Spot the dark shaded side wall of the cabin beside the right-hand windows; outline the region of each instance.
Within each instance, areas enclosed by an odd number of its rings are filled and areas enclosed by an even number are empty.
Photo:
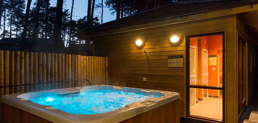
[[[246,28],[246,26],[244,25],[242,19],[240,15],[236,15],[236,28],[237,28],[237,34],[238,36],[240,36],[241,38],[243,38],[243,40],[245,41],[245,43],[247,44],[247,87],[246,89],[247,91],[247,102],[246,105],[248,105],[248,102],[250,101],[251,97],[253,96],[253,83],[254,83],[254,76],[253,76],[253,56],[254,56],[254,40],[252,39],[252,36],[250,36],[250,32],[248,31],[248,29]]]

